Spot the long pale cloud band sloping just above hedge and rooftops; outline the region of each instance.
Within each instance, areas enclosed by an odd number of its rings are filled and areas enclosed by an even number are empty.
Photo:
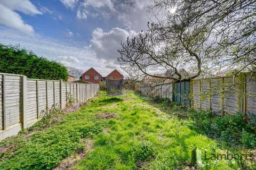
[[[44,56],[49,60],[56,60],[67,66],[79,69],[90,69],[94,67],[103,76],[111,69],[104,67],[104,60],[98,60],[94,52],[88,47],[79,47],[72,43],[64,43],[53,38],[42,35],[26,35],[14,29],[0,26],[0,43],[4,45],[17,45],[21,48],[31,50],[38,56]]]

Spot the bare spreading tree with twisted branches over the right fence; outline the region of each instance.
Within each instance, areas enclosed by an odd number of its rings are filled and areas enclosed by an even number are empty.
[[[152,9],[158,11],[158,22],[127,38],[118,50],[118,61],[130,76],[186,81],[230,70],[234,76],[255,71],[255,1],[162,0]],[[171,72],[153,74],[154,67]]]

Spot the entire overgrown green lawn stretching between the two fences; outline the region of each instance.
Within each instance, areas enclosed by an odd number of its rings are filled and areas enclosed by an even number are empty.
[[[0,143],[0,169],[52,169],[93,145],[72,169],[195,169],[191,151],[202,151],[204,169],[239,169],[235,160],[206,160],[225,153],[218,143],[189,128],[190,122],[161,111],[133,92],[119,99],[100,92],[91,104],[63,115],[49,128],[42,122]],[[40,128],[41,127],[41,128]],[[25,136],[34,132],[29,137]],[[253,168],[252,168],[253,169]]]

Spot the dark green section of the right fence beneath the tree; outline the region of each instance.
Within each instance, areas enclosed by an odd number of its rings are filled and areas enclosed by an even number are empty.
[[[174,83],[173,87],[173,101],[190,107],[190,83],[189,81],[182,81]]]

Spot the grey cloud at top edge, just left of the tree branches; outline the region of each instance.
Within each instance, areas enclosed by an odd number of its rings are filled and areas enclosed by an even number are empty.
[[[147,23],[155,21],[154,12],[148,12],[148,5],[153,4],[153,0],[84,0],[78,7],[77,18],[87,19],[90,15],[93,18],[107,19],[108,22],[113,21],[119,27],[123,25],[135,31],[146,30]]]

